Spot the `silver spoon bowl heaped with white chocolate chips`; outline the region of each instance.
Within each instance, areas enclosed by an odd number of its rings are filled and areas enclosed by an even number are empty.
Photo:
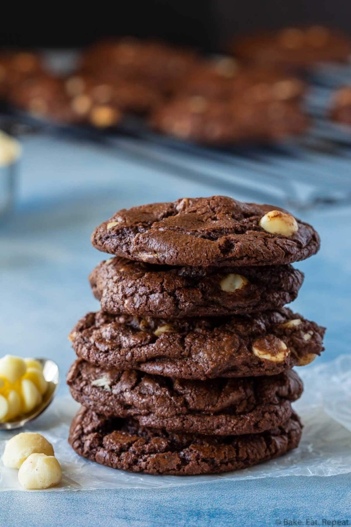
[[[0,431],[16,430],[41,415],[52,403],[59,384],[54,360],[0,359]]]

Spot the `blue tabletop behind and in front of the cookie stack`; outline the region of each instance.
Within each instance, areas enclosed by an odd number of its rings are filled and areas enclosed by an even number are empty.
[[[36,135],[27,136],[23,146],[16,210],[0,227],[1,355],[52,357],[65,374],[74,360],[67,334],[78,318],[98,307],[87,283],[89,271],[103,258],[90,245],[93,228],[122,207],[225,192],[220,184],[182,178],[90,143]],[[234,197],[250,200],[244,193]],[[350,349],[351,207],[299,215],[319,231],[322,249],[298,264],[306,277],[294,309],[328,326],[326,352],[318,359],[328,361]],[[60,389],[67,391],[64,383]],[[151,490],[2,492],[0,525],[258,527],[346,519],[351,525],[350,476]]]

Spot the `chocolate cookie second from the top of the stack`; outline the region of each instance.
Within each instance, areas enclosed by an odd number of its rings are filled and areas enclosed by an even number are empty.
[[[244,315],[292,302],[304,275],[290,265],[168,267],[112,258],[89,276],[107,313],[167,318]]]

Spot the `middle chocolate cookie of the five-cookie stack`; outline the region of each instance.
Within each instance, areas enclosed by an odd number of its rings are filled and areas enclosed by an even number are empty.
[[[167,320],[88,313],[70,339],[97,366],[175,378],[275,375],[312,362],[324,328],[282,308],[231,318]]]

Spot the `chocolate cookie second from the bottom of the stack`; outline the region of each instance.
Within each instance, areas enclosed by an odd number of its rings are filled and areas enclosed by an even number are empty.
[[[295,372],[244,379],[179,380],[77,360],[67,384],[78,403],[105,417],[205,435],[255,434],[285,423],[303,385]]]

